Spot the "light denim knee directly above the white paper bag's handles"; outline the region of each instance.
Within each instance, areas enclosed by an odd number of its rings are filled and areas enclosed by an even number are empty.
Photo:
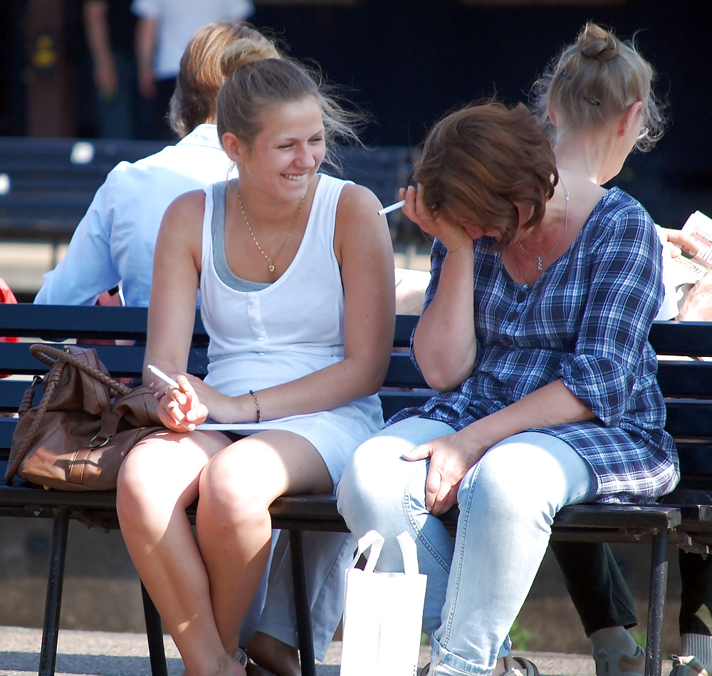
[[[416,463],[400,457],[388,437],[375,437],[357,449],[337,488],[337,504],[347,526],[360,537],[371,529],[387,536],[404,513]],[[396,533],[396,534],[397,534]]]

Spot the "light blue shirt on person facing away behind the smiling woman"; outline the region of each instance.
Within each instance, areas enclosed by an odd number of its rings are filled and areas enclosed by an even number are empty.
[[[216,125],[209,124],[155,155],[120,162],[97,190],[63,259],[45,274],[34,302],[93,305],[122,282],[126,305],[147,308],[163,212],[179,194],[224,181],[232,167]]]

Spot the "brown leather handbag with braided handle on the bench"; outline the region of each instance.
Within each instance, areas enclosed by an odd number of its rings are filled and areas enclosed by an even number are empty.
[[[119,467],[140,440],[166,430],[150,388],[129,388],[111,378],[94,348],[31,345],[30,353],[51,368],[33,380],[19,408],[20,419],[5,474],[63,491],[116,488]],[[32,407],[42,383],[41,402]]]

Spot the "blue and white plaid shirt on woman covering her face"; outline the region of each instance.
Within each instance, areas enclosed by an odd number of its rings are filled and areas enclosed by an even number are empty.
[[[643,207],[610,189],[570,249],[532,286],[516,284],[490,251],[473,243],[477,357],[453,392],[399,412],[461,430],[554,380],[562,380],[597,418],[538,428],[567,442],[597,477],[602,502],[646,502],[679,480],[677,452],[663,427],[648,331],[663,296],[661,244]],[[435,241],[435,295],[446,249]]]

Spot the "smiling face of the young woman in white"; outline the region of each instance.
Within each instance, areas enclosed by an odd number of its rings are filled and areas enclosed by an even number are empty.
[[[311,96],[270,105],[259,123],[251,146],[237,140],[233,159],[241,184],[253,184],[279,201],[302,199],[326,154],[320,105]]]

